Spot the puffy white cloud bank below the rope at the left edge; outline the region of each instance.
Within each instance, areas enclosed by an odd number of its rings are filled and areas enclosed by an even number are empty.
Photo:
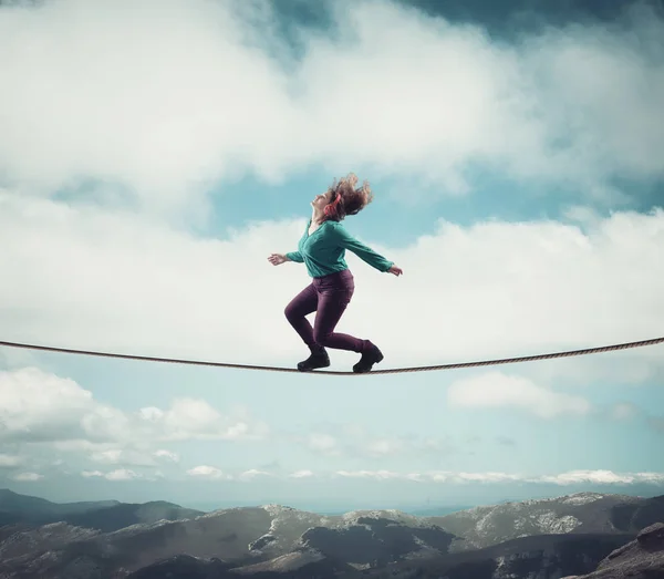
[[[175,399],[167,410],[121,411],[75,381],[35,368],[0,371],[0,442],[17,449],[15,456],[0,455],[0,467],[28,458],[49,462],[52,455],[44,449],[50,448],[90,465],[117,466],[103,475],[111,480],[137,476],[126,467],[177,464],[179,455],[160,447],[164,442],[256,441],[267,428],[245,409],[224,415],[195,399]],[[85,472],[98,473],[95,467]]]

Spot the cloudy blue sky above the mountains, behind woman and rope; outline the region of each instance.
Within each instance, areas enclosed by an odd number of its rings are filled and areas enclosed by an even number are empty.
[[[0,340],[294,368],[335,177],[377,369],[662,335],[661,2],[0,2]],[[664,345],[330,376],[0,347],[0,486],[199,508],[664,494]],[[330,370],[357,354],[331,351]]]

